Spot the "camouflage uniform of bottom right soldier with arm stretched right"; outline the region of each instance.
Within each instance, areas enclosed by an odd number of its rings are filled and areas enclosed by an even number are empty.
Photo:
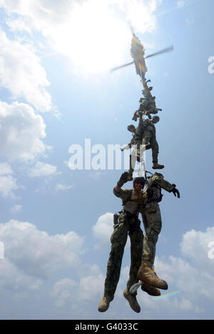
[[[148,196],[147,189],[149,188],[151,194]],[[144,192],[146,204],[141,206],[141,215],[145,229],[145,236],[143,239],[143,256],[142,261],[150,261],[154,263],[156,256],[156,243],[158,241],[158,234],[161,232],[162,220],[161,211],[158,202],[161,202],[161,189],[171,192],[174,189],[174,184],[163,179],[163,175],[155,173],[148,180],[148,186]]]

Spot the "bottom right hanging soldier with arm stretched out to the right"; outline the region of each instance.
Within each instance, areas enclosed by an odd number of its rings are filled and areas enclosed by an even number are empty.
[[[143,201],[145,202],[140,209],[146,234],[143,239],[143,256],[137,277],[139,280],[151,286],[166,290],[168,284],[158,278],[153,266],[158,235],[162,227],[161,211],[158,205],[163,197],[161,189],[165,189],[167,192],[173,192],[175,197],[180,198],[180,193],[178,189],[176,189],[176,185],[166,181],[163,178],[163,174],[155,173],[148,180],[143,194]]]

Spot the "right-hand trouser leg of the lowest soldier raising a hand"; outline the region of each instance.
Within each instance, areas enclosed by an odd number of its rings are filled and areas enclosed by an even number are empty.
[[[137,274],[141,266],[141,257],[143,252],[143,231],[139,226],[136,231],[133,231],[133,233],[128,235],[131,241],[131,266],[127,282],[127,289],[129,290],[133,284],[138,283]]]

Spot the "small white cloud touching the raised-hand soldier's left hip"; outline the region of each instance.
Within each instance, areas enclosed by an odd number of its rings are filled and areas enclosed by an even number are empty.
[[[113,214],[107,212],[98,218],[98,221],[93,225],[93,235],[98,239],[96,249],[103,246],[110,246],[110,237],[113,232]]]

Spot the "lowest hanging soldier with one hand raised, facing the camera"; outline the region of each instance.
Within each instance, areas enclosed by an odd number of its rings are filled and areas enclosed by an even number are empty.
[[[126,246],[127,237],[131,240],[131,266],[126,290],[123,296],[128,301],[131,308],[139,313],[141,307],[136,299],[136,294],[131,295],[129,288],[138,282],[137,273],[141,265],[141,254],[143,251],[143,231],[141,230],[141,221],[138,219],[139,209],[143,201],[142,189],[145,184],[143,177],[136,177],[133,181],[133,189],[121,189],[124,183],[128,181],[128,172],[121,175],[113,194],[123,201],[123,211],[119,215],[114,216],[114,230],[111,235],[111,253],[108,259],[106,280],[104,286],[104,294],[99,303],[98,310],[105,312],[108,310],[109,303],[113,301],[114,293],[118,285],[121,273],[121,263],[123,259],[123,251]],[[143,283],[144,291],[158,296],[158,289]]]

